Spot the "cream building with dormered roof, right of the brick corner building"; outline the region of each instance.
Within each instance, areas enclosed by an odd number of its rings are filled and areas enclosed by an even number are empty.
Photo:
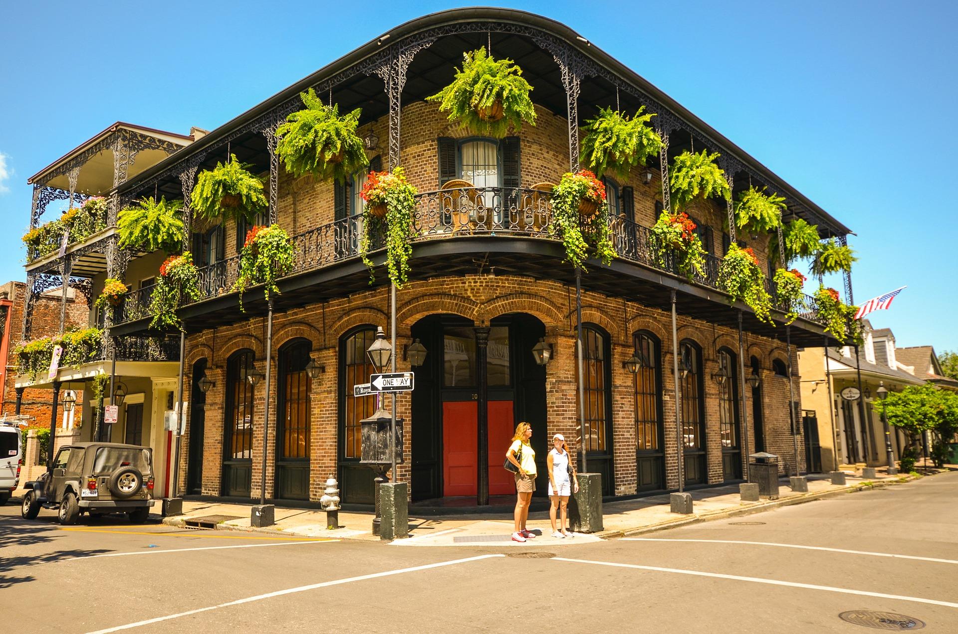
[[[807,426],[817,428],[817,443],[810,443],[810,453],[816,470],[831,470],[841,465],[888,464],[884,442],[884,426],[875,399],[878,387],[889,392],[900,392],[909,385],[921,385],[922,380],[901,369],[895,348],[895,335],[889,328],[872,329],[862,321],[864,343],[855,358],[855,349],[805,349],[798,354],[802,374],[803,419]],[[827,353],[827,356],[826,356]],[[842,397],[846,388],[858,389],[860,368],[863,400]],[[831,404],[830,404],[831,403]],[[892,451],[901,456],[904,437],[890,428]],[[835,462],[837,457],[837,463]]]

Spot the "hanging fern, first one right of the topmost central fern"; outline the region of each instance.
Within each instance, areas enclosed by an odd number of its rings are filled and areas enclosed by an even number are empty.
[[[654,114],[642,114],[642,106],[629,118],[618,110],[601,108],[599,116],[585,122],[582,156],[599,176],[606,170],[622,177],[636,164],[645,165],[646,159],[658,154],[662,138],[649,121]]]

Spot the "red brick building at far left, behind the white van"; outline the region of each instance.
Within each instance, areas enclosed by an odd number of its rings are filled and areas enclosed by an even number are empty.
[[[15,384],[17,358],[14,355],[16,345],[23,340],[23,307],[26,303],[27,285],[22,282],[8,282],[0,286],[0,358],[5,360],[0,368],[3,384],[3,402],[0,413],[4,415],[22,414],[30,417],[31,427],[50,427],[51,403],[53,393],[38,388],[17,387]],[[52,288],[38,295],[33,302],[34,336],[48,336],[58,333],[60,309],[65,306],[66,328],[86,328],[90,309],[86,301],[73,288],[67,290],[66,302],[63,301],[63,289]],[[77,397],[82,398],[82,386],[73,386]],[[64,388],[66,389],[66,388]],[[57,417],[60,426],[80,428],[82,415],[77,410],[71,415]]]

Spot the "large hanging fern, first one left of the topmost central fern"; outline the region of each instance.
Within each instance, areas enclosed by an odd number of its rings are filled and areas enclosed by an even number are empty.
[[[276,153],[294,176],[312,173],[340,183],[369,165],[362,139],[356,134],[361,108],[339,116],[339,105],[325,105],[310,88],[300,93],[306,108],[286,117],[276,130]]]

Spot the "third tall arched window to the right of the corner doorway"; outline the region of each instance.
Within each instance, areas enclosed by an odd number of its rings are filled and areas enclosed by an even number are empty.
[[[705,412],[702,392],[702,351],[691,341],[679,345],[682,379],[682,438],[685,455],[685,482],[704,485],[707,480],[705,456]]]

